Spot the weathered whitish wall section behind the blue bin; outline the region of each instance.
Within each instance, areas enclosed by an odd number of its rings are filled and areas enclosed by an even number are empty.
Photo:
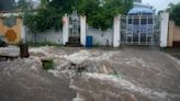
[[[93,27],[87,29],[87,35],[93,37],[93,45],[98,46],[112,46],[113,45],[113,29],[106,31],[100,31]]]

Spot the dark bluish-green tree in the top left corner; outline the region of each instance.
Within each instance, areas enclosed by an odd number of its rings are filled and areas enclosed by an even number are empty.
[[[0,0],[0,11],[10,11],[15,9],[15,0]]]

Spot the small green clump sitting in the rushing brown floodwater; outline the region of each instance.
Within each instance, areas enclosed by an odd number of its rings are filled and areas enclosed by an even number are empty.
[[[53,59],[43,59],[42,63],[43,63],[43,69],[45,70],[54,69],[55,64]]]

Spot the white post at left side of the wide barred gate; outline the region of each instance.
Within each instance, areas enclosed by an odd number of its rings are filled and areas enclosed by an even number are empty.
[[[120,31],[121,31],[121,15],[117,15],[114,18],[114,33],[113,33],[113,47],[119,47],[120,46]]]

